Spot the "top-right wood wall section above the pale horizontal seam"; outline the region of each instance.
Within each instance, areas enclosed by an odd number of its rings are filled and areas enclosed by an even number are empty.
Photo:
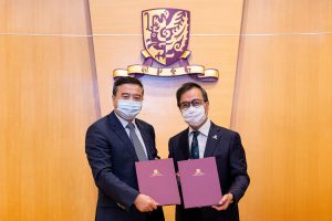
[[[332,31],[330,0],[247,0],[245,12],[247,33]]]

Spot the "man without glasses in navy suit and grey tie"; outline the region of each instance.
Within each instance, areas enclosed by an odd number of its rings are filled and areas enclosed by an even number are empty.
[[[158,158],[153,126],[135,118],[143,94],[138,80],[117,80],[114,110],[86,131],[85,152],[98,188],[96,221],[164,220],[162,208],[137,187],[135,161]]]

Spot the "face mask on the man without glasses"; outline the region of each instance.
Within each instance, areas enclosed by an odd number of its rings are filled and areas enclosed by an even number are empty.
[[[142,109],[142,102],[118,99],[115,113],[126,120],[132,120]]]

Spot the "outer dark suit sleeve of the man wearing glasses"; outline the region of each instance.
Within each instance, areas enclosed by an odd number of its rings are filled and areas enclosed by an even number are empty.
[[[230,147],[230,177],[232,179],[230,192],[234,201],[238,202],[245,194],[250,178],[247,172],[246,152],[241,144],[240,135],[236,133]]]

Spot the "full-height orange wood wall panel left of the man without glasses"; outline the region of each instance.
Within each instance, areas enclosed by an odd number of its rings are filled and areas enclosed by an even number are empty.
[[[100,107],[87,1],[0,2],[0,220],[93,220],[84,134]]]

